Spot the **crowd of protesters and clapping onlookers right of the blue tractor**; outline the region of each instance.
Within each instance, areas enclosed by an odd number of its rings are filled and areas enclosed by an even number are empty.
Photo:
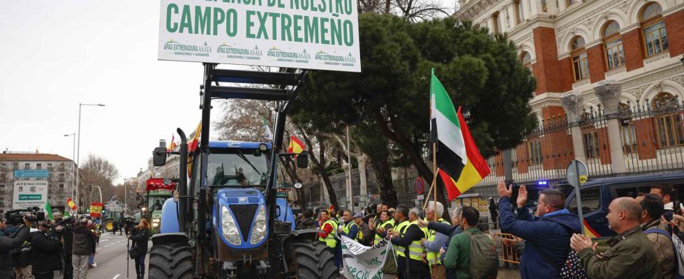
[[[602,241],[582,234],[579,216],[565,209],[559,190],[542,191],[531,213],[526,187],[515,201],[512,188],[499,182],[498,205],[490,211],[498,213],[501,232],[515,236],[502,245],[521,255],[521,278],[678,278],[681,259],[672,238],[684,235],[684,216],[675,210],[672,186],[611,201],[606,220],[616,236]],[[397,278],[496,278],[498,253],[491,236],[478,229],[479,211],[456,207],[448,221],[441,218],[444,211],[439,202],[429,202],[425,211],[387,204],[370,214],[323,210],[314,216],[307,210],[299,227],[320,228],[318,239],[334,250],[341,269],[340,236],[366,246],[387,238],[396,250]]]

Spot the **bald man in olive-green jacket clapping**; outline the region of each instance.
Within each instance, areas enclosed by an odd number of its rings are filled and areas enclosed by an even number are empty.
[[[579,253],[589,278],[658,279],[657,255],[641,230],[641,206],[632,197],[619,197],[608,206],[608,226],[618,233],[609,239],[611,246],[597,254],[598,243],[581,234],[570,239],[570,248]]]

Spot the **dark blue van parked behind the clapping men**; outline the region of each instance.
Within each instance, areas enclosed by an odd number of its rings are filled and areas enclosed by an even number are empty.
[[[586,233],[595,237],[614,235],[615,232],[608,228],[606,219],[610,202],[617,197],[637,197],[639,193],[648,193],[650,186],[660,183],[673,186],[673,195],[676,196],[672,197],[673,200],[684,201],[684,172],[620,176],[585,183],[580,194]],[[579,212],[576,197],[573,189],[565,199],[565,208],[575,214]]]

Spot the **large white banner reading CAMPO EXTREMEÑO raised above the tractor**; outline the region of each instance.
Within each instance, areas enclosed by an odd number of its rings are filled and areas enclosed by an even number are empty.
[[[158,59],[361,71],[357,0],[161,0]]]

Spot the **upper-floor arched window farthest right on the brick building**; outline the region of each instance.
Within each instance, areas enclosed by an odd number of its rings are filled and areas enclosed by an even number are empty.
[[[667,31],[665,22],[662,20],[662,8],[658,3],[648,3],[644,10],[641,10],[639,22],[644,30],[644,45],[646,45],[646,56],[659,54],[669,48],[667,44]]]

